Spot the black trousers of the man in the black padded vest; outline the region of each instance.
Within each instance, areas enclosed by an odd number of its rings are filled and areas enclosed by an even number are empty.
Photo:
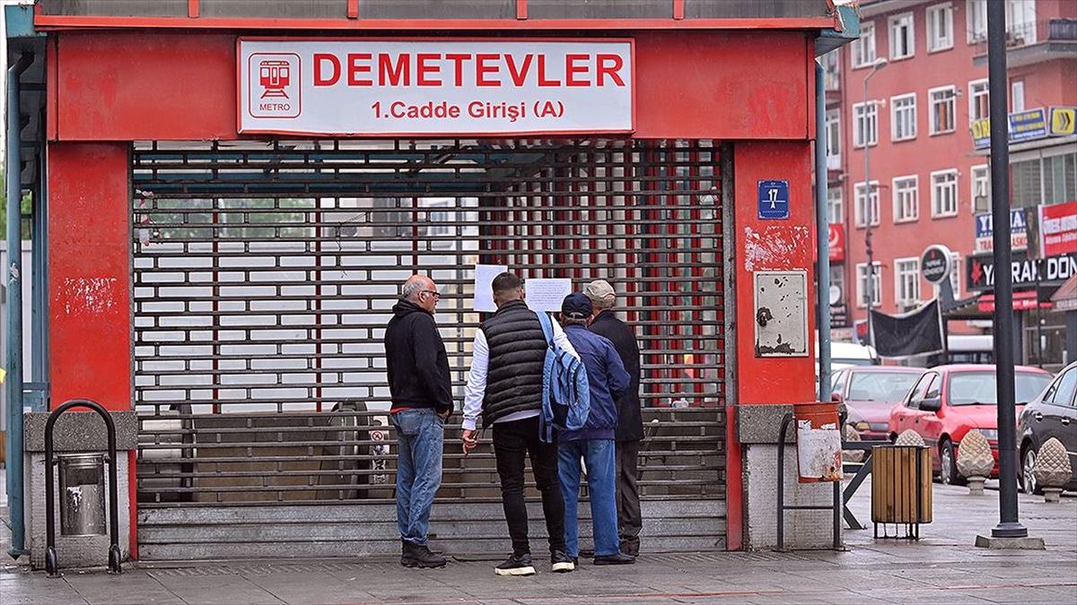
[[[528,508],[523,501],[523,462],[531,459],[531,472],[542,493],[542,510],[549,533],[549,551],[564,550],[564,501],[557,480],[557,444],[538,439],[538,417],[493,425],[493,453],[501,478],[501,503],[505,508],[513,552],[531,552],[528,541]]]

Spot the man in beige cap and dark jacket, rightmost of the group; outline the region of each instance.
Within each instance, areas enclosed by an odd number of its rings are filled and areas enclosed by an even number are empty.
[[[640,553],[640,530],[643,518],[640,512],[640,491],[635,480],[639,472],[637,459],[640,441],[643,439],[643,418],[640,412],[640,346],[631,326],[617,318],[613,307],[617,299],[610,282],[595,280],[587,284],[584,294],[591,299],[595,315],[590,330],[613,342],[625,369],[631,377],[628,391],[617,399],[617,533],[620,534],[620,549],[635,557]]]

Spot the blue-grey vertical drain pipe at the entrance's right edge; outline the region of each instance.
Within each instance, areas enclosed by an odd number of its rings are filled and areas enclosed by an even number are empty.
[[[817,282],[815,328],[819,330],[819,400],[830,400],[830,225],[826,208],[826,85],[815,61],[815,247]]]

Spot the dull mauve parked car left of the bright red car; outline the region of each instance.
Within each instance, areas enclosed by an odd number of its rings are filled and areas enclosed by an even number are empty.
[[[927,371],[905,366],[852,366],[834,372],[830,399],[845,404],[847,424],[861,439],[885,440],[890,436],[890,410],[901,403],[917,380]]]

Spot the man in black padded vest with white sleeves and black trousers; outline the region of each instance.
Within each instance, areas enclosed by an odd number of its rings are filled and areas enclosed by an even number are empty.
[[[482,427],[493,426],[501,502],[513,540],[513,554],[494,573],[499,576],[535,573],[523,501],[523,461],[529,456],[535,484],[542,492],[551,569],[571,572],[575,565],[564,553],[564,501],[557,479],[557,444],[544,444],[538,438],[546,336],[538,316],[523,301],[520,278],[504,272],[491,285],[498,311],[475,333],[464,392],[463,440],[464,453],[478,445],[475,426],[480,413]],[[556,322],[551,323],[555,341],[575,355],[564,332]]]

